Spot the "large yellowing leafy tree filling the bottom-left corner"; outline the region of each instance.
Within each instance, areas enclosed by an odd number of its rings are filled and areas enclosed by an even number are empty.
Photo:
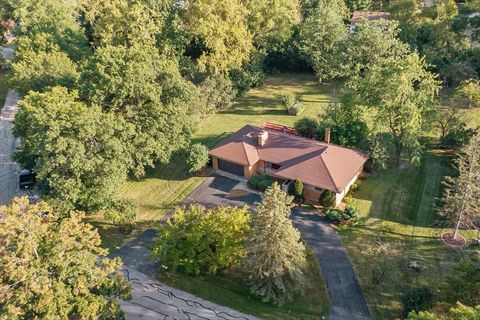
[[[119,319],[130,297],[119,258],[105,258],[83,215],[59,219],[44,202],[0,207],[1,319]]]

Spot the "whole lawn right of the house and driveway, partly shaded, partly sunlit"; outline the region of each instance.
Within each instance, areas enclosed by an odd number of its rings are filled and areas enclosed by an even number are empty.
[[[440,285],[461,258],[440,241],[445,229],[433,227],[441,181],[452,170],[450,159],[451,155],[440,150],[429,150],[419,167],[379,172],[362,180],[353,193],[362,218],[358,225],[342,227],[339,233],[376,319],[401,319],[401,295],[408,288],[428,286],[441,296]],[[398,275],[374,286],[368,268],[371,261],[362,251],[378,238],[398,245],[405,261],[419,261],[421,271],[411,273],[403,266]]]

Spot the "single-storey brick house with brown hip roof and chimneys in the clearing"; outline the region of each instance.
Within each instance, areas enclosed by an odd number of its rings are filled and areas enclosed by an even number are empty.
[[[291,128],[246,125],[213,147],[209,154],[216,170],[248,178],[267,173],[284,187],[294,179],[304,185],[304,198],[318,202],[331,190],[336,205],[342,202],[363,171],[367,156],[356,150],[299,137]]]

